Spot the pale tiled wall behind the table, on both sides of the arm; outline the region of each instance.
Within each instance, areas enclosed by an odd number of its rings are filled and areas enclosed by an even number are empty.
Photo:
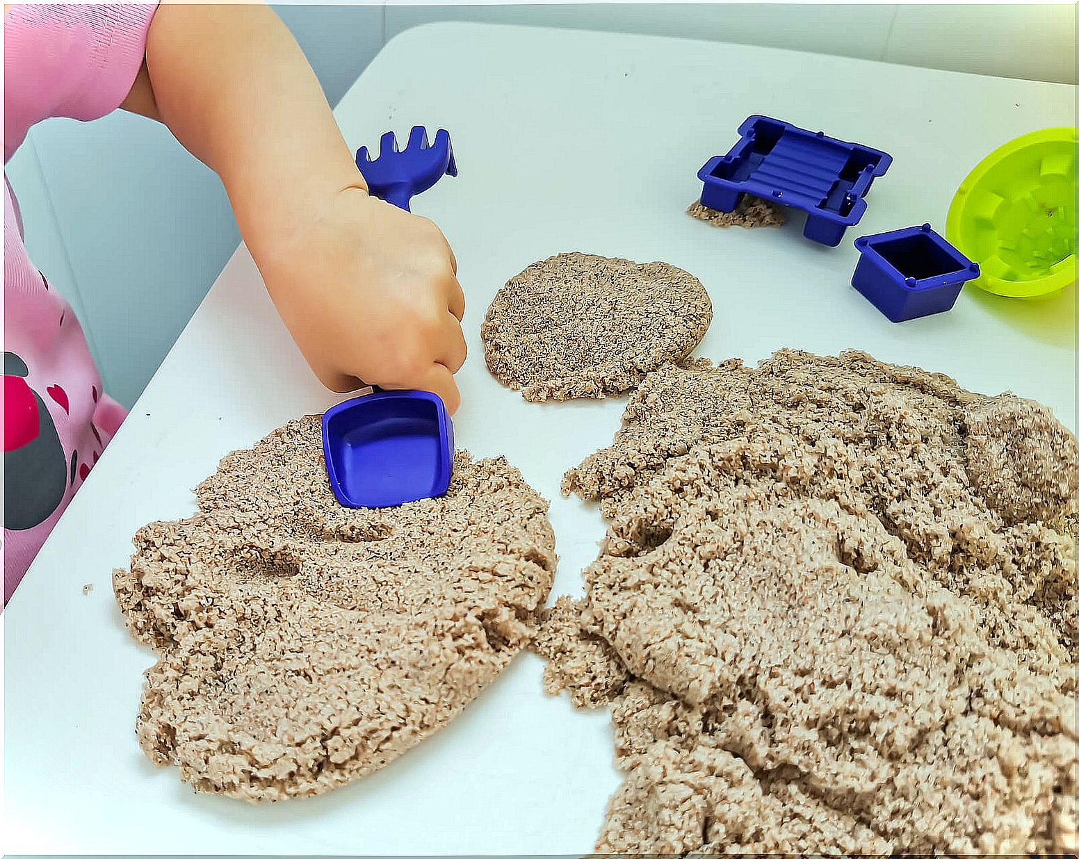
[[[644,32],[1076,82],[1073,5],[276,6],[331,104],[386,39],[432,21]],[[35,128],[8,165],[27,246],[69,297],[106,387],[132,404],[238,241],[217,178],[153,123]]]

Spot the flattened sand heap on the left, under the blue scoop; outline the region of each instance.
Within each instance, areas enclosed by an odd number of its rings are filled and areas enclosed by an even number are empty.
[[[226,456],[200,512],[136,535],[113,586],[158,652],[138,739],[196,790],[322,793],[446,725],[524,645],[550,589],[547,503],[459,452],[441,499],[338,506],[319,420]]]

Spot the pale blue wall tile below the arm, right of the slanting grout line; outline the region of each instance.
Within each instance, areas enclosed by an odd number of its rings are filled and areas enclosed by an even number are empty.
[[[35,136],[106,390],[129,406],[240,241],[224,189],[167,128],[123,111]]]

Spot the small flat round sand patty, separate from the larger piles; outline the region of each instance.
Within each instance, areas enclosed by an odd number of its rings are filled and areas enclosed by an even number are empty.
[[[708,292],[681,269],[559,254],[498,290],[481,336],[494,377],[542,401],[629,391],[688,355],[711,322]]]

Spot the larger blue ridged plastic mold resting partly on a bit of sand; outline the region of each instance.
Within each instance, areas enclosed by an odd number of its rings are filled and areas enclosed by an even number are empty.
[[[750,117],[741,139],[725,155],[709,159],[697,172],[705,188],[700,203],[734,212],[750,193],[806,212],[806,238],[835,247],[865,214],[863,199],[891,165],[878,149],[807,132],[768,117]]]

